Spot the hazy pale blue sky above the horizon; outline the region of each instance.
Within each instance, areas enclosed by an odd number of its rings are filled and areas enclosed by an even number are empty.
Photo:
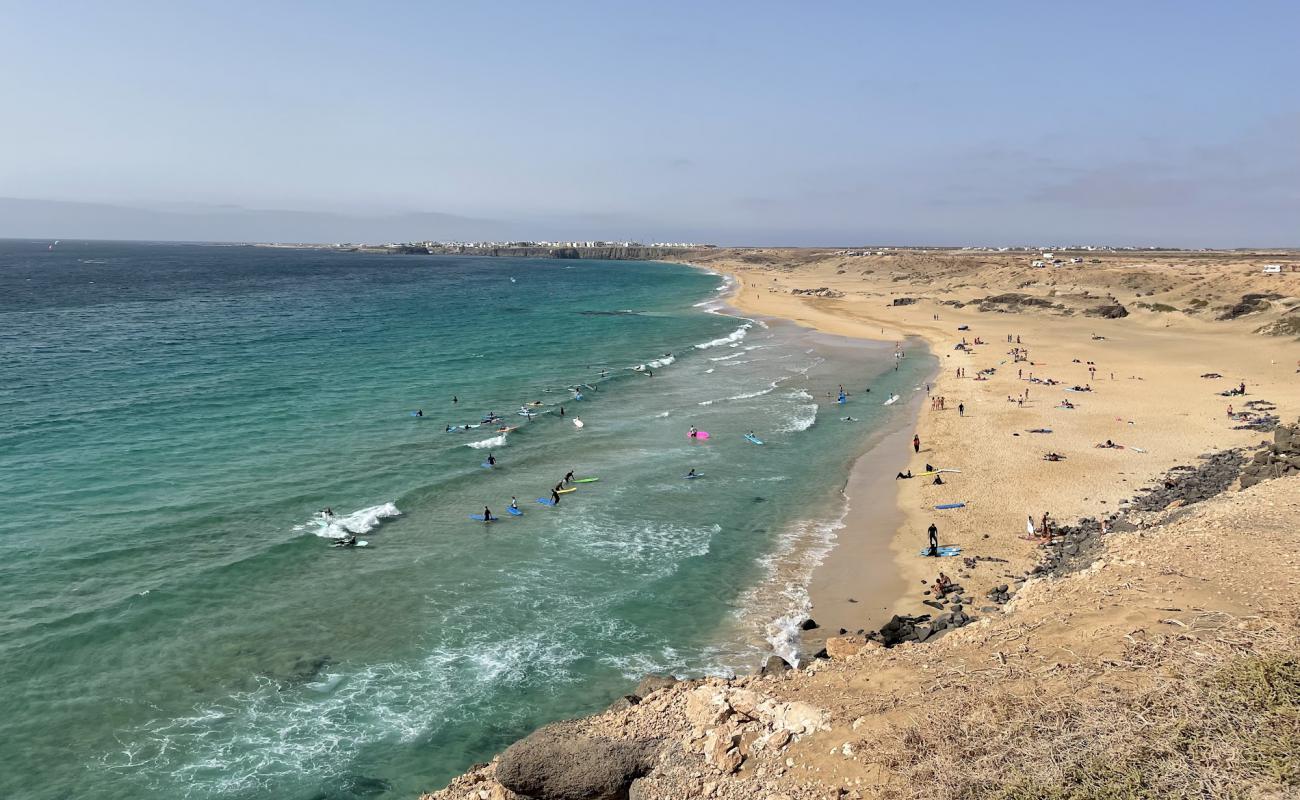
[[[1297,3],[0,20],[0,235],[1300,246]]]

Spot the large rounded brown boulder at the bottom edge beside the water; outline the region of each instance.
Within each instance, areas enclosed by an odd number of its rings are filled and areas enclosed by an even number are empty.
[[[655,743],[618,741],[549,725],[506,748],[497,780],[532,800],[627,800],[654,765]]]

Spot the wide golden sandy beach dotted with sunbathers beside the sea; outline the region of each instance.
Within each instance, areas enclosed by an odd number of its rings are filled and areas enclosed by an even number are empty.
[[[1260,272],[1257,264],[1268,258],[1221,258],[1195,271],[1183,267],[1186,256],[1176,254],[1139,267],[1131,265],[1135,259],[1108,258],[1109,264],[1101,268],[1079,264],[1043,271],[1031,268],[1031,259],[1023,255],[991,259],[926,251],[890,256],[786,251],[793,258],[781,260],[781,251],[759,252],[772,263],[755,265],[753,252],[722,254],[706,261],[737,280],[732,303],[741,311],[781,316],[841,336],[894,342],[916,336],[926,341],[939,358],[939,375],[930,397],[915,402],[920,451],[911,453],[911,434],[894,437],[894,445],[902,449],[898,470],[920,472],[927,463],[961,470],[945,473],[941,487],[930,479],[897,481],[900,522],[888,536],[896,580],[889,580],[879,568],[862,568],[870,563],[871,548],[883,545],[879,532],[870,529],[871,519],[863,516],[864,507],[876,507],[883,500],[881,492],[868,488],[863,473],[893,476],[897,470],[881,462],[879,454],[859,462],[850,481],[846,527],[814,583],[814,617],[827,628],[870,628],[883,622],[878,619],[881,614],[888,619],[894,611],[926,611],[919,587],[932,583],[939,571],[953,578],[958,571],[979,593],[1006,583],[1005,568],[982,565],[967,571],[959,558],[919,558],[931,523],[939,527],[940,544],[961,546],[963,555],[1032,563],[1040,542],[1024,539],[1030,516],[1039,523],[1044,513],[1062,523],[1109,516],[1135,488],[1170,467],[1208,450],[1258,441],[1258,432],[1234,429],[1239,423],[1230,420],[1226,410],[1235,398],[1219,397],[1218,392],[1245,382],[1249,394],[1236,401],[1238,407],[1260,398],[1283,408],[1300,407],[1300,354],[1292,338],[1253,334],[1262,324],[1258,317],[1219,321],[1136,306],[1152,289],[1166,286],[1173,290],[1164,293],[1164,304],[1169,295],[1188,304],[1192,299],[1227,304],[1238,302],[1239,294],[1277,289],[1279,284],[1290,286],[1286,294],[1300,294],[1295,286],[1300,276]],[[888,269],[879,269],[881,261]],[[940,276],[928,277],[936,261],[941,269],[962,274],[965,286],[957,289],[935,280]],[[914,277],[898,281],[901,273]],[[1010,312],[1006,306],[980,311],[980,304],[972,302],[1014,289],[1031,297],[1024,282],[1034,277],[1050,280],[1041,284],[1050,286],[1046,291],[1056,297],[1061,297],[1057,287],[1069,282],[1071,297],[1054,302],[1075,312],[1041,312],[1023,302]],[[1117,285],[1131,286],[1131,297],[1117,297]],[[840,297],[792,293],[800,289],[828,289],[827,294]],[[898,298],[915,302],[896,306]],[[967,304],[956,307],[953,302]],[[1130,303],[1131,315],[1119,320],[1082,315],[1109,302]],[[970,347],[954,350],[963,341]],[[1015,347],[1026,351],[1027,360],[1014,360],[1010,351]],[[993,372],[987,380],[976,380],[985,369]],[[1200,377],[1216,372],[1223,377]],[[1037,382],[1046,380],[1058,384]],[[1091,392],[1067,390],[1075,385]],[[931,397],[944,398],[944,408],[932,410]],[[1075,407],[1061,407],[1063,401]],[[963,415],[958,406],[965,406]],[[1123,449],[1096,447],[1108,440]],[[1046,462],[1046,453],[1065,459]],[[868,494],[858,500],[854,489]],[[935,510],[936,505],[954,502],[966,506]],[[907,592],[894,597],[896,605],[884,613],[888,587],[907,587]],[[863,596],[871,604],[850,609],[846,618],[842,611],[848,598]],[[863,614],[867,609],[871,613]]]

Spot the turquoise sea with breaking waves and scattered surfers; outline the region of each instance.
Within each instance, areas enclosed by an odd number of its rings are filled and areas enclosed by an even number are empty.
[[[0,796],[412,797],[647,671],[789,652],[926,362],[722,284],[0,242]],[[445,432],[489,411],[519,428]],[[601,480],[538,505],[569,470]]]

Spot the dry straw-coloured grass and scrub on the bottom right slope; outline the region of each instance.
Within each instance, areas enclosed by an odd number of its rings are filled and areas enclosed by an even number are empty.
[[[1300,793],[1300,639],[1257,620],[1131,635],[1119,660],[953,673],[884,735],[896,799],[1165,800]],[[1216,624],[1206,626],[1206,622]]]

